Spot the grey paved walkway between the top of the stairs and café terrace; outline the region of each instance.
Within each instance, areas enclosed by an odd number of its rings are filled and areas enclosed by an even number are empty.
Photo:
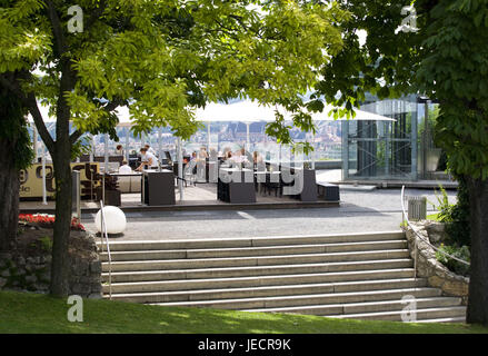
[[[408,189],[407,195],[427,196],[438,205],[432,190]],[[450,202],[456,191],[448,191]],[[431,204],[428,214],[434,212]],[[94,215],[83,225],[94,228]],[[340,234],[397,230],[401,222],[400,189],[341,190],[339,208],[247,211],[147,211],[127,214],[127,229],[113,240],[232,238],[279,235]]]

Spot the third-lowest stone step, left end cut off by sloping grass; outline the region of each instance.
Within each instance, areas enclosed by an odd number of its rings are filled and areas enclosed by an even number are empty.
[[[345,305],[343,309],[349,308],[355,303],[361,305],[366,301],[384,301],[400,300],[404,296],[414,296],[416,298],[439,297],[441,294],[438,288],[406,288],[406,289],[384,289],[371,291],[352,291],[352,293],[331,293],[316,295],[298,295],[298,296],[279,296],[279,297],[259,297],[259,298],[238,298],[238,299],[218,299],[218,300],[198,300],[198,301],[172,301],[158,303],[163,306],[179,307],[209,307],[216,309],[258,309],[267,312],[268,309],[283,307],[301,307],[301,306],[328,306]],[[447,301],[446,301],[447,303]],[[374,304],[371,304],[374,306]],[[356,310],[356,309],[352,309]],[[348,313],[348,310],[346,310]],[[356,313],[356,312],[353,312]]]

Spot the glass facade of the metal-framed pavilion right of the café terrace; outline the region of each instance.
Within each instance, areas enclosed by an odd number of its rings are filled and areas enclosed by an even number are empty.
[[[342,121],[342,179],[417,180],[418,103],[369,98],[361,110],[395,121]]]

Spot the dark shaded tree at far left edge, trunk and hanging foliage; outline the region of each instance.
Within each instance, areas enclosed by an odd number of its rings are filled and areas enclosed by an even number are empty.
[[[9,251],[16,243],[19,219],[19,170],[32,160],[26,108],[0,86],[0,251]]]

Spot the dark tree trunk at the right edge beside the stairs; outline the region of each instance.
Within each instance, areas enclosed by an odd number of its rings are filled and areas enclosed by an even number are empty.
[[[471,275],[467,322],[488,325],[488,180],[468,178]]]

